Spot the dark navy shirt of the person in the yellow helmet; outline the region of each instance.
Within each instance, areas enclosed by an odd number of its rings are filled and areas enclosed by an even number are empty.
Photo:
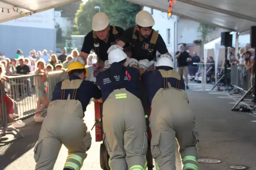
[[[69,77],[70,81],[76,80],[76,79],[80,79],[80,78],[76,75],[70,75]],[[62,85],[62,81],[57,83],[57,85],[55,86],[55,89],[53,90],[53,93],[52,93],[52,101],[61,100],[61,93],[62,93],[61,85]],[[65,100],[67,100],[68,94],[72,96],[73,89],[65,90],[65,98],[64,98]],[[76,93],[76,100],[81,102],[83,107],[83,112],[86,111],[86,107],[89,104],[91,98],[95,98],[98,100],[101,97],[102,97],[101,90],[93,82],[88,80],[83,80],[83,82],[81,83]]]

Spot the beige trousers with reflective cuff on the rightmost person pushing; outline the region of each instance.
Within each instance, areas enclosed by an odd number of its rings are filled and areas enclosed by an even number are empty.
[[[187,93],[176,88],[159,89],[152,100],[149,121],[152,132],[151,152],[156,169],[176,170],[177,139],[183,170],[198,170],[198,133]]]

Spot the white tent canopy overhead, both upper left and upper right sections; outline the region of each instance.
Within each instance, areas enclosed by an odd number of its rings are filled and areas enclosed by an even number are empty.
[[[0,23],[24,17],[30,13],[38,13],[78,0],[0,0],[0,7],[10,13],[0,15]],[[143,6],[167,12],[168,0],[127,0]],[[255,0],[173,0],[172,14],[229,31],[248,31],[256,25]],[[14,12],[13,8],[18,12]],[[19,11],[22,11],[20,14]]]

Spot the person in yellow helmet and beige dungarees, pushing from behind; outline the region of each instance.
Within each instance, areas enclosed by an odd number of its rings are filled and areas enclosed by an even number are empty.
[[[36,170],[52,170],[62,144],[68,149],[64,170],[81,169],[91,146],[83,117],[91,98],[102,102],[101,91],[84,80],[88,73],[81,57],[69,62],[67,72],[69,79],[55,86],[34,148]]]

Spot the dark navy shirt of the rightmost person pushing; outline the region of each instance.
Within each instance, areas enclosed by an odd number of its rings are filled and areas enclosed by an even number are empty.
[[[168,71],[169,68],[162,67],[162,70]],[[167,78],[168,82],[172,87],[176,87],[177,79],[176,78]],[[146,71],[141,75],[141,81],[146,85],[147,88],[147,95],[148,95],[148,101],[151,106],[152,100],[156,94],[156,92],[160,88],[164,88],[164,78],[162,77],[160,71],[158,70],[151,70]],[[185,83],[181,76],[179,89],[185,90]],[[171,96],[170,96],[171,97]]]

